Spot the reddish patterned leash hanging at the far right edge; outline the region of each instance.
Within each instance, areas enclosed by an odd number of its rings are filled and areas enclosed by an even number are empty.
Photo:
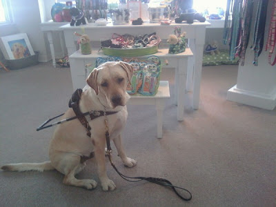
[[[268,30],[268,41],[266,42],[266,51],[269,51],[268,54],[268,63],[271,66],[274,66],[276,63],[276,57],[273,62],[271,62],[271,57],[273,55],[274,49],[276,44],[276,0],[272,3],[272,11],[271,11],[271,18],[270,18],[270,25]]]

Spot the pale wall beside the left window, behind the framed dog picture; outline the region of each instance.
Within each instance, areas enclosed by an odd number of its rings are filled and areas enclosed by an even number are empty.
[[[0,36],[27,33],[34,51],[39,51],[39,61],[48,61],[44,34],[40,30],[41,17],[37,0],[10,1],[13,13],[13,24],[0,26]],[[3,55],[0,55],[3,58]]]

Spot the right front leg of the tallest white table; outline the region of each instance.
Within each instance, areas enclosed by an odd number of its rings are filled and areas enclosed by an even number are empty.
[[[205,42],[205,28],[197,28],[195,32],[195,67],[194,67],[194,83],[193,83],[193,108],[199,108],[199,94],[201,82],[202,60]]]

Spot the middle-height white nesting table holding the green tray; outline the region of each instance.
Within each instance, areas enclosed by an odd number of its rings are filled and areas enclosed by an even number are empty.
[[[182,121],[184,119],[184,95],[186,90],[187,68],[188,59],[193,57],[193,52],[190,48],[186,48],[185,52],[181,52],[176,55],[168,54],[168,49],[159,49],[159,52],[155,53],[163,61],[168,60],[168,68],[175,68],[175,102],[177,103],[177,120]],[[81,52],[76,51],[69,56],[70,70],[73,83],[73,89],[83,88],[86,83],[86,77],[88,77],[90,71],[86,71],[86,64],[92,63],[95,65],[95,61],[98,57],[107,57],[103,55],[103,52],[92,50],[90,55],[81,55]],[[165,66],[162,66],[163,68]]]

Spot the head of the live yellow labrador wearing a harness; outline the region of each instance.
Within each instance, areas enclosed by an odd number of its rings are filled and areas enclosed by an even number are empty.
[[[95,68],[86,82],[95,90],[101,103],[106,103],[110,108],[125,106],[129,99],[126,92],[128,81],[132,78],[133,68],[123,61],[110,61]]]

